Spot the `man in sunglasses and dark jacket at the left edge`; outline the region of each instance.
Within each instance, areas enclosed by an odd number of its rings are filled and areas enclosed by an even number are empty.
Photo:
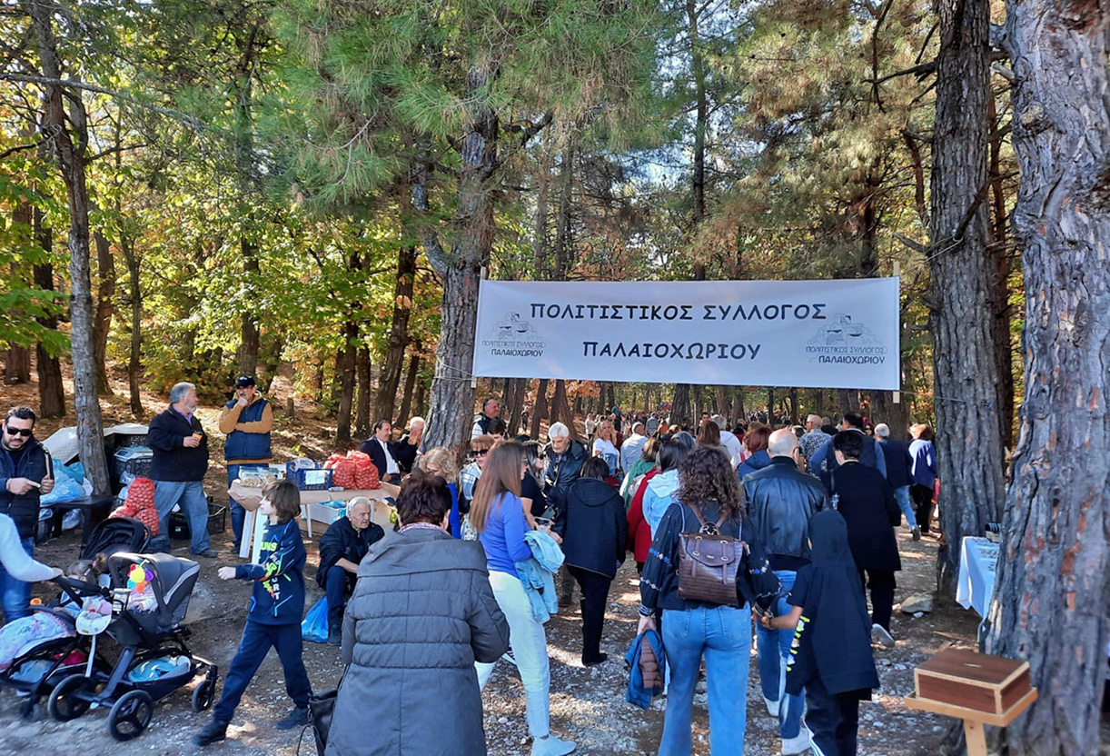
[[[39,522],[39,497],[54,490],[47,476],[47,454],[34,437],[34,412],[12,407],[0,432],[0,512],[16,522],[19,541],[28,556],[34,555],[34,526]],[[18,581],[0,565],[0,606],[6,622],[31,613],[31,584]]]

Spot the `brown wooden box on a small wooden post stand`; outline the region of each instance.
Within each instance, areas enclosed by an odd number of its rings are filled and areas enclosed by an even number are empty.
[[[914,671],[914,683],[906,705],[962,719],[968,756],[987,756],[983,725],[1006,727],[1037,700],[1028,663],[968,651],[940,652]]]

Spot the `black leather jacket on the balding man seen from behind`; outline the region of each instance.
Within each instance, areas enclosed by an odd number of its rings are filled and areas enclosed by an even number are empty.
[[[809,562],[809,518],[829,504],[825,486],[785,456],[744,477],[748,518],[773,569],[798,569]]]

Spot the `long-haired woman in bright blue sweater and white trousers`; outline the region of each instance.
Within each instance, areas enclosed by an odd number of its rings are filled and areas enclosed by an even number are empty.
[[[490,585],[508,621],[509,646],[527,696],[532,756],[563,756],[574,743],[551,734],[551,669],[543,623],[532,615],[532,603],[516,573],[516,563],[532,558],[524,540],[528,530],[521,501],[525,474],[524,447],[516,442],[497,444],[490,451],[471,503],[471,525],[486,553]],[[478,664],[478,686],[485,687],[492,664]]]

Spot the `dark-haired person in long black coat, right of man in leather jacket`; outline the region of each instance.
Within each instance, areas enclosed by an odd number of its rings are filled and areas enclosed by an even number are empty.
[[[901,512],[886,476],[859,463],[861,448],[859,433],[841,431],[833,436],[840,465],[833,475],[833,505],[848,524],[848,545],[859,579],[871,591],[871,636],[892,646],[895,573],[901,569],[894,528],[901,524]]]

